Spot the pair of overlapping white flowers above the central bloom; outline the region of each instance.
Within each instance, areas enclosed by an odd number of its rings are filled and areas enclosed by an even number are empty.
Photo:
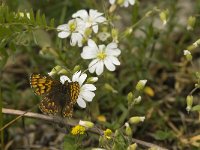
[[[67,24],[57,27],[59,32],[58,37],[67,38],[71,35],[71,46],[78,45],[82,47],[84,38],[88,37],[86,31],[92,28],[93,32],[97,33],[98,24],[106,21],[106,18],[102,15],[103,13],[93,9],[90,9],[89,12],[86,10],[79,10],[72,15],[73,19],[69,20]]]

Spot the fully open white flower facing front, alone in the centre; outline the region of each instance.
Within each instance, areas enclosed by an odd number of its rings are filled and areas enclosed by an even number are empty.
[[[104,65],[109,71],[116,69],[115,65],[120,65],[118,56],[121,50],[117,48],[116,43],[105,45],[96,45],[96,43],[89,39],[88,46],[83,47],[81,57],[83,59],[93,59],[89,64],[89,72],[96,72],[97,75],[102,74]]]

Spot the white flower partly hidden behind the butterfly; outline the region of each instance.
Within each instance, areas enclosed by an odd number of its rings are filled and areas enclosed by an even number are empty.
[[[72,81],[67,76],[61,76],[60,82],[62,84],[65,83],[65,81],[69,82],[78,82],[80,85],[80,93],[77,99],[77,103],[81,108],[86,107],[86,102],[91,102],[94,98],[95,94],[94,91],[96,90],[96,87],[93,84],[83,84],[83,82],[86,80],[87,74],[81,73],[81,71],[77,71],[72,76]]]

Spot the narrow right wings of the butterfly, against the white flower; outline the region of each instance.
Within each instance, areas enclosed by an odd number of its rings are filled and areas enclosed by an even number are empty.
[[[62,116],[63,117],[72,117],[74,104],[76,104],[76,101],[78,99],[79,93],[80,93],[80,86],[78,82],[66,82],[67,86],[67,102],[65,106],[62,109]]]

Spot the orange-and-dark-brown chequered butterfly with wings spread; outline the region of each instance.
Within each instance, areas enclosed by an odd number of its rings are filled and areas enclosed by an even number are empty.
[[[65,81],[62,84],[51,76],[32,74],[30,85],[34,93],[42,97],[39,108],[44,114],[72,116],[73,107],[80,93],[78,82]]]

